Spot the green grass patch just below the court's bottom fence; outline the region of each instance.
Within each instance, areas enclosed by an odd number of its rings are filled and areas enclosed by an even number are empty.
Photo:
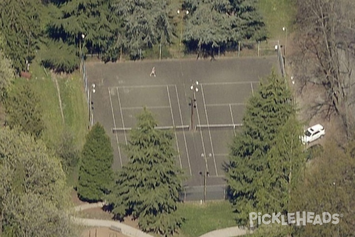
[[[235,226],[232,205],[228,201],[181,203],[178,213],[186,218],[179,237],[197,237],[221,228]]]

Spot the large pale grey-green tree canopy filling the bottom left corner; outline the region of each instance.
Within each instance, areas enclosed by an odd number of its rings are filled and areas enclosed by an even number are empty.
[[[18,129],[1,128],[0,140],[0,235],[75,236],[58,158]]]

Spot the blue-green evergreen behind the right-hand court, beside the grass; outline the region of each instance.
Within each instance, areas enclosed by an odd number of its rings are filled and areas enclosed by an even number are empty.
[[[255,0],[185,0],[184,42],[191,50],[211,52],[234,48],[240,42],[266,39],[266,31]]]

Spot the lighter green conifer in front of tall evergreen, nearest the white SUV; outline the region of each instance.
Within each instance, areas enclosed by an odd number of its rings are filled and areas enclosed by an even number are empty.
[[[258,173],[258,210],[287,215],[296,186],[303,181],[306,153],[301,143],[302,127],[295,115],[290,116],[275,137],[265,169]]]

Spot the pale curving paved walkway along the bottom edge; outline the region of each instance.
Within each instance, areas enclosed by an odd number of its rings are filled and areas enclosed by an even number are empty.
[[[83,211],[92,208],[102,208],[105,203],[89,203],[83,204],[75,207],[75,211]],[[133,228],[129,225],[125,225],[118,221],[110,221],[110,220],[98,220],[98,219],[86,219],[86,218],[77,218],[72,217],[72,221],[79,225],[84,226],[98,226],[98,227],[116,227],[120,228],[122,234],[130,236],[130,237],[153,237],[144,233],[141,230]],[[247,233],[252,233],[251,231],[240,229],[238,227],[229,227],[219,230],[214,230],[208,232],[206,234],[201,235],[200,237],[236,237],[246,235]]]

